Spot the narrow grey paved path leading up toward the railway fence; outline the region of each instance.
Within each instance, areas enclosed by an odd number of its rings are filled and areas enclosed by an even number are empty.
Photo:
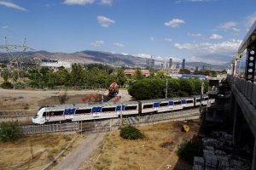
[[[73,150],[73,152],[55,167],[55,170],[79,169],[80,165],[90,156],[90,153],[96,149],[97,144],[102,141],[104,134],[105,133],[89,134],[77,149]]]

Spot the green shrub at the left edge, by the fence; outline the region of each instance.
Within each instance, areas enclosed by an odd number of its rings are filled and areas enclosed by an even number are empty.
[[[0,141],[1,142],[14,142],[23,136],[19,123],[16,122],[1,122],[0,123]]]

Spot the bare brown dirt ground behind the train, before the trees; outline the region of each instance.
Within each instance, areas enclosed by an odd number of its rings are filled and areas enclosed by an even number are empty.
[[[126,89],[120,89],[123,101],[131,100]],[[38,110],[41,105],[59,105],[58,96],[63,90],[15,90],[0,88],[0,111]],[[67,91],[66,104],[81,103],[90,94],[108,94],[107,90]]]

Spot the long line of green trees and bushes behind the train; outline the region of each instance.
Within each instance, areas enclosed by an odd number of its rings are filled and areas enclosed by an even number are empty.
[[[140,69],[134,75],[126,76],[125,68],[113,69],[108,65],[73,64],[71,71],[60,67],[53,71],[48,67],[32,68],[28,71],[2,71],[4,82],[2,88],[16,88],[23,84],[29,86],[101,86],[108,88],[112,82],[129,87],[128,92],[135,99],[155,99],[178,96],[189,96],[201,93],[201,80],[199,79],[174,79],[166,77],[164,71],[150,71],[149,77],[144,77]],[[18,77],[26,78],[24,82],[17,82]],[[9,82],[10,81],[10,82]],[[167,87],[166,87],[167,81]],[[12,82],[12,83],[11,83]],[[205,81],[207,89],[208,82]]]

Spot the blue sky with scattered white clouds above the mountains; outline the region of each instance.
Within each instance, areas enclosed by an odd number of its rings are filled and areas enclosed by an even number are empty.
[[[255,0],[0,0],[0,45],[26,37],[49,52],[221,64],[236,55],[255,7]]]

